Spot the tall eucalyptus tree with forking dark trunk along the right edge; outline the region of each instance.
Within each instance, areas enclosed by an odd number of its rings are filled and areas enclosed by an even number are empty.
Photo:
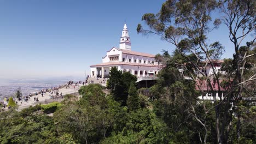
[[[234,63],[232,63],[233,68],[235,68],[234,77],[232,80],[232,87],[230,88],[230,94],[226,95],[227,103],[230,101],[233,102],[234,112],[237,113],[238,122],[237,122],[237,139],[240,139],[240,117],[241,113],[236,111],[236,105],[240,103],[242,97],[250,95],[251,97],[255,97],[251,89],[248,89],[247,83],[254,81],[256,82],[256,73],[255,69],[249,69],[252,73],[246,75],[246,71],[248,71],[248,62],[251,64],[252,59],[256,58],[255,52],[255,22],[256,22],[256,2],[251,0],[245,1],[222,1],[220,3],[220,10],[223,15],[221,17],[222,22],[228,28],[229,32],[229,40],[234,45]],[[254,32],[254,33],[253,33]],[[249,34],[253,34],[254,37],[251,37],[251,41],[247,43],[247,46],[241,46],[246,37],[249,37]],[[246,93],[246,94],[245,94]],[[228,118],[226,118],[226,113],[228,113],[231,107],[226,105],[224,121],[228,122]],[[224,123],[226,124],[226,123]],[[224,136],[225,125],[222,127],[222,135]],[[225,139],[226,136],[225,136]]]

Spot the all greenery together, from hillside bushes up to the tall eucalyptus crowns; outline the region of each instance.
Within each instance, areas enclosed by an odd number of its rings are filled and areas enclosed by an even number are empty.
[[[254,39],[245,46],[239,42],[255,31],[254,8],[249,0],[166,1],[158,14],[143,15],[149,30],[140,24],[137,28],[175,47],[171,55],[156,55],[165,67],[154,86],[137,89],[136,76],[114,67],[107,89],[90,84],[80,88],[80,99],[65,95],[61,103],[1,112],[0,142],[256,143],[256,48]],[[212,22],[216,9],[224,17]],[[207,44],[207,34],[221,22],[229,27],[234,57],[224,59],[226,73],[206,75],[206,64],[214,67],[224,54],[218,41]],[[202,80],[210,90],[195,90]],[[214,92],[211,81],[217,83],[216,93],[226,88],[224,98],[199,100],[199,95]]]

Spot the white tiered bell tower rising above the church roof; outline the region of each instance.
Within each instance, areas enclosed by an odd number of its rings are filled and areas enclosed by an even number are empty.
[[[126,23],[124,25],[122,36],[119,42],[119,49],[131,50],[131,41],[130,41],[129,31],[127,29]]]

